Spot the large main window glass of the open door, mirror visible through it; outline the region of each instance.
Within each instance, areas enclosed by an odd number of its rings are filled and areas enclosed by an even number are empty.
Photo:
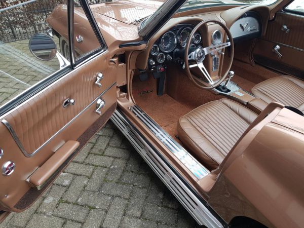
[[[60,45],[67,37],[66,4],[66,0],[0,2],[0,106],[69,66]]]

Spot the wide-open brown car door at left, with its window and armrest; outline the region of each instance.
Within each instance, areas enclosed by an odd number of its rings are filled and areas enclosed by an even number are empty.
[[[21,212],[111,117],[117,66],[85,1],[6,2],[0,9],[0,210]],[[74,23],[74,7],[84,24]],[[54,50],[46,46],[58,47],[50,60]],[[76,53],[75,46],[85,49]]]

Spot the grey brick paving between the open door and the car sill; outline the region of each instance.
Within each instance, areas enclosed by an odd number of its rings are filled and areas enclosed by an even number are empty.
[[[109,121],[34,205],[0,227],[195,227]]]

